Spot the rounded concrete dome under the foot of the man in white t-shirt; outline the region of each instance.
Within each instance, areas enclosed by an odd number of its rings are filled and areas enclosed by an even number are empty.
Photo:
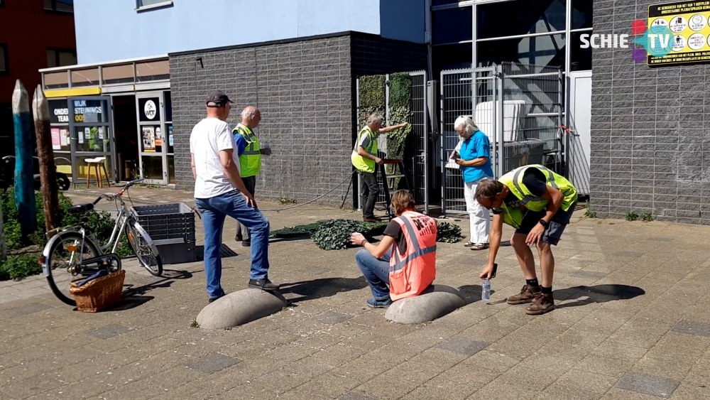
[[[287,305],[281,293],[244,289],[207,304],[197,315],[197,324],[204,329],[234,328],[278,313]]]

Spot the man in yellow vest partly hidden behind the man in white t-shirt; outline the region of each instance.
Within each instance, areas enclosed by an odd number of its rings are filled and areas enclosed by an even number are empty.
[[[259,139],[254,134],[254,129],[261,122],[261,112],[256,107],[246,107],[241,112],[241,122],[236,125],[234,143],[236,153],[239,155],[239,166],[241,168],[241,180],[244,180],[246,190],[252,196],[256,196],[256,175],[261,170],[261,155],[268,155],[268,148],[261,148]],[[236,236],[234,240],[241,242],[244,247],[251,246],[251,234],[249,228],[236,222]]]

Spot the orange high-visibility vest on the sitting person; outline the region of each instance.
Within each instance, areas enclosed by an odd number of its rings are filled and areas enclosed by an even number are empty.
[[[437,222],[419,212],[407,211],[393,219],[407,241],[407,253],[397,244],[390,257],[390,297],[392,301],[417,296],[437,276]]]

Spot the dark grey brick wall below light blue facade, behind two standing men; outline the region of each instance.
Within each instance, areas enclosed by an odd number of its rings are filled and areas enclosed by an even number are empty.
[[[257,198],[303,202],[336,188],[353,171],[356,77],[426,65],[424,45],[364,33],[170,55],[177,186],[190,190],[194,184],[190,132],[204,117],[209,90],[234,99],[233,126],[247,105],[261,110],[256,134],[273,154],[262,158]],[[347,183],[321,202],[340,205],[346,190]]]

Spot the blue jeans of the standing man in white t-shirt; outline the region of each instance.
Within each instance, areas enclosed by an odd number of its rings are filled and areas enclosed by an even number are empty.
[[[227,215],[251,231],[251,279],[267,279],[269,223],[261,211],[247,205],[238,190],[214,198],[196,198],[195,204],[202,213],[204,226],[204,275],[207,278],[209,298],[224,296],[219,283],[222,279],[219,249],[222,247],[222,228]]]

